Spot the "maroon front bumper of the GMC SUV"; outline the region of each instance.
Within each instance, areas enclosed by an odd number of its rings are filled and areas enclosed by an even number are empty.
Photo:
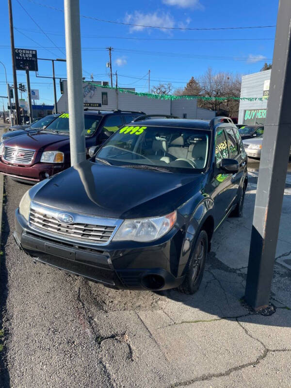
[[[11,163],[4,163],[0,160],[0,173],[11,178],[26,182],[37,183],[45,178],[45,174],[49,176],[57,174],[65,169],[64,164],[50,164],[50,163],[35,163],[32,165],[17,165]]]

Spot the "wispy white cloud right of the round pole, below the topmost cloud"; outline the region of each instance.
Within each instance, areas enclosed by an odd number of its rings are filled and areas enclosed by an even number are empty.
[[[165,12],[153,12],[144,14],[143,12],[134,11],[133,14],[127,14],[125,17],[126,23],[139,24],[139,26],[131,26],[130,32],[133,31],[143,31],[146,27],[143,26],[153,26],[153,27],[167,27],[171,28],[175,26],[174,18]],[[167,31],[163,30],[162,31]]]

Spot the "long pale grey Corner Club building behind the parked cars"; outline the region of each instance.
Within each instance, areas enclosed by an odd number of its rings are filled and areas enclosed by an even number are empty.
[[[210,120],[215,112],[197,107],[196,99],[155,99],[138,96],[133,93],[122,93],[118,89],[102,88],[101,82],[83,82],[84,107],[111,111],[142,111],[146,114],[173,114],[180,118],[197,118]],[[94,85],[95,84],[95,85]],[[134,89],[123,89],[134,91]],[[63,91],[58,101],[58,112],[68,112],[67,82],[63,81]]]

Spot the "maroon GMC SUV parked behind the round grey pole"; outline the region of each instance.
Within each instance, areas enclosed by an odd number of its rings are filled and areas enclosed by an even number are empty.
[[[84,111],[87,149],[104,143],[114,131],[143,112]],[[0,173],[37,183],[70,166],[69,114],[62,113],[45,129],[4,140],[0,145]]]

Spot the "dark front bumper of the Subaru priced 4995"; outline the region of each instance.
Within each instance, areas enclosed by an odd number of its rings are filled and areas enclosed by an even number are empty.
[[[49,264],[66,272],[116,289],[166,290],[178,287],[184,276],[178,276],[179,234],[159,245],[125,248],[118,246],[82,246],[42,236],[34,231],[19,214],[15,215],[14,239],[35,261]],[[128,242],[128,245],[130,242]],[[113,245],[111,247],[111,245]],[[174,254],[176,252],[176,255]]]

